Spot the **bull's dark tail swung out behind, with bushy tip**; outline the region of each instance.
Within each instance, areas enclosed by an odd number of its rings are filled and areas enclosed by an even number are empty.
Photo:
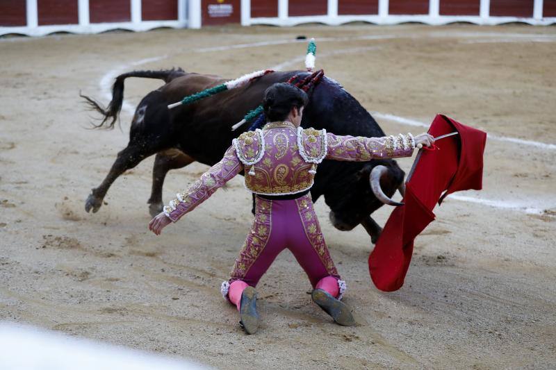
[[[124,102],[124,80],[128,77],[142,77],[142,78],[158,78],[165,83],[172,81],[174,78],[183,76],[186,72],[183,69],[162,69],[160,71],[133,71],[120,74],[116,77],[114,85],[112,85],[112,101],[108,103],[106,108],[103,108],[100,103],[95,99],[85,96],[79,92],[79,96],[85,99],[87,105],[91,110],[96,110],[102,117],[99,124],[92,124],[93,128],[114,128],[114,124],[122,110],[122,103]]]

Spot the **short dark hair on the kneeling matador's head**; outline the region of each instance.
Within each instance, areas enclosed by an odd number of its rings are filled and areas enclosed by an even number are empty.
[[[267,121],[282,121],[288,117],[291,108],[299,111],[309,102],[307,94],[289,83],[275,83],[265,90],[263,108]]]

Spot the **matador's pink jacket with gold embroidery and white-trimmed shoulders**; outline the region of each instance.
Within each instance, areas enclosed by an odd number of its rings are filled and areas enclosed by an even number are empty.
[[[245,169],[245,187],[256,194],[284,195],[308,190],[324,159],[368,161],[410,156],[411,134],[386,137],[339,136],[314,128],[272,122],[234,139],[224,158],[170,201],[164,213],[177,221]]]

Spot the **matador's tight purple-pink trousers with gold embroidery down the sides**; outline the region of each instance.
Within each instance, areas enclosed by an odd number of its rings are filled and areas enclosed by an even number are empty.
[[[343,281],[330,258],[313,209],[311,195],[269,200],[256,196],[255,219],[231,272],[228,298],[239,309],[241,293],[255,287],[277,255],[289,249],[313,288],[340,296]],[[343,290],[343,289],[342,289]]]

